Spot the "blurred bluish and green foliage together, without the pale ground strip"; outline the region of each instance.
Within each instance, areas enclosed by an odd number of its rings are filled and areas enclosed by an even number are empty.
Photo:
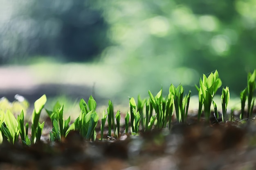
[[[194,95],[194,84],[214,70],[231,94],[239,94],[246,87],[247,72],[255,68],[254,0],[19,3],[9,24],[0,27],[1,62],[29,52],[81,61],[104,49],[98,64],[121,75],[108,76],[121,87],[108,87],[109,94],[146,96],[147,89],[154,93],[160,85],[168,89],[171,83],[182,83]]]

